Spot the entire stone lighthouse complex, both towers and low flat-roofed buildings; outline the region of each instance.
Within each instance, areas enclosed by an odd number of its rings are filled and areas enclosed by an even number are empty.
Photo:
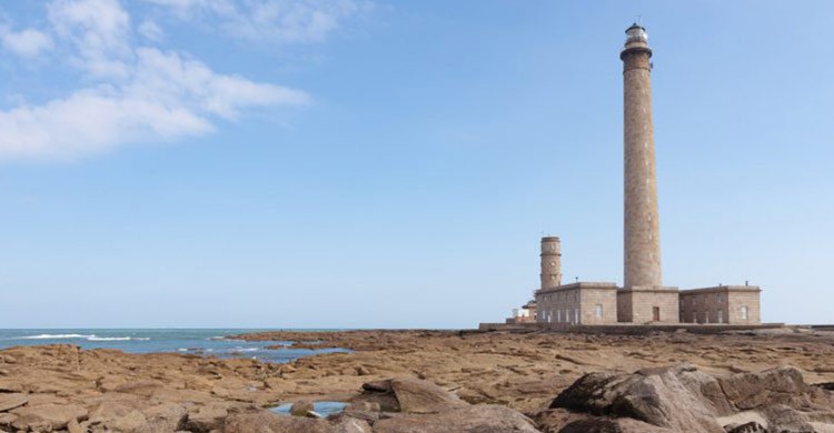
[[[678,290],[664,286],[657,212],[657,175],[652,121],[652,49],[646,29],[626,30],[624,91],[624,284],[562,284],[559,238],[542,239],[538,323],[579,324],[759,324],[758,286],[719,285]]]

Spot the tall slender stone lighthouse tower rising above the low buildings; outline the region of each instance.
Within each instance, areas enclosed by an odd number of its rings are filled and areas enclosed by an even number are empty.
[[[625,289],[659,288],[655,139],[652,125],[652,50],[646,29],[626,30],[623,60],[625,111]]]

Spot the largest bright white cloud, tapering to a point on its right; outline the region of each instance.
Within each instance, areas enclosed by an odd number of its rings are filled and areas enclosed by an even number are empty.
[[[137,142],[210,133],[247,109],[302,105],[298,90],[212,71],[176,51],[138,47],[116,0],[57,0],[53,31],[90,85],[0,111],[0,159],[77,159]]]

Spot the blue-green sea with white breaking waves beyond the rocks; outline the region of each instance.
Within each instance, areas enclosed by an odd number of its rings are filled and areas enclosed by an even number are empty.
[[[203,356],[247,358],[286,363],[322,353],[350,351],[338,348],[292,349],[289,341],[230,340],[231,335],[265,331],[260,329],[67,329],[0,330],[0,349],[18,345],[75,344],[82,349],[117,349],[129,353],[190,353]],[[336,331],[336,330],[296,330]],[[267,349],[281,345],[281,349]]]

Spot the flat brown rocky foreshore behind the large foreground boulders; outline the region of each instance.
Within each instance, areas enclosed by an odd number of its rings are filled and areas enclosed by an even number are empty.
[[[26,395],[29,407],[71,407],[88,421],[105,416],[102,405],[110,407],[112,416],[137,411],[145,419],[151,416],[148,411],[165,406],[181,421],[180,415],[195,419],[208,410],[228,415],[300,400],[350,402],[360,396],[364,384],[410,377],[428,381],[469,404],[506,406],[536,417],[579,377],[600,371],[631,373],[685,363],[726,375],[790,364],[808,384],[834,382],[831,331],[638,336],[470,330],[270,331],[234,339],[299,342],[278,350],[338,346],[353,352],[278,364],[244,358],[81,350],[67,344],[18,346],[0,350],[0,393]],[[0,430],[20,422],[20,417],[9,421],[12,413],[0,411]]]

